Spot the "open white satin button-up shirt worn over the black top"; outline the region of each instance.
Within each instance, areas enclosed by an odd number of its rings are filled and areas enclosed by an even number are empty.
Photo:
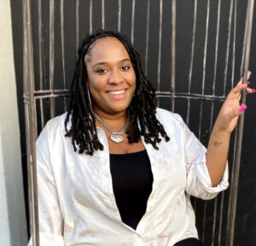
[[[154,182],[136,230],[122,222],[115,203],[103,129],[97,133],[104,150],[93,156],[79,154],[71,138],[64,136],[65,117],[51,119],[37,141],[41,246],[172,246],[198,237],[189,196],[211,199],[224,191],[228,168],[219,185],[212,187],[206,148],[180,116],[157,109],[171,138],[160,142],[159,151],[142,139]]]

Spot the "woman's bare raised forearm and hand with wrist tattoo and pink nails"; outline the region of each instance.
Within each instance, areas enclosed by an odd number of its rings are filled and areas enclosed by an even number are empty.
[[[247,79],[250,75],[251,72],[247,72]],[[239,115],[247,108],[245,105],[240,106],[241,91],[247,89],[249,94],[255,92],[255,89],[249,89],[247,86],[248,83],[242,83],[242,79],[237,83],[228,94],[214,123],[206,156],[212,187],[218,186],[223,177],[230,146],[230,134],[236,127]]]

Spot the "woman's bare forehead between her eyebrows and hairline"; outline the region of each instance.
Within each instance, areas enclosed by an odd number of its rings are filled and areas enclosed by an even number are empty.
[[[96,40],[90,48],[90,54],[85,55],[87,62],[123,60],[125,58],[130,59],[130,56],[124,44],[116,37],[102,37]]]

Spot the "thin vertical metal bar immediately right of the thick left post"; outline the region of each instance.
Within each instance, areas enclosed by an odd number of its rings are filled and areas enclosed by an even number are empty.
[[[39,83],[40,89],[43,89],[43,54],[42,54],[42,3],[41,0],[38,0],[38,51],[39,51]],[[40,99],[40,117],[41,117],[41,124],[42,128],[44,127],[44,105],[43,100]]]

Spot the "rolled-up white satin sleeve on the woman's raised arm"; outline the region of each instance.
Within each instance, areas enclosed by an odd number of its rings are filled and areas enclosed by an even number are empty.
[[[183,133],[185,138],[185,158],[187,164],[187,184],[186,192],[194,197],[202,199],[212,199],[229,186],[228,162],[224,170],[222,180],[218,186],[212,187],[212,181],[207,169],[206,153],[207,149],[195,137],[187,125],[183,123]]]

